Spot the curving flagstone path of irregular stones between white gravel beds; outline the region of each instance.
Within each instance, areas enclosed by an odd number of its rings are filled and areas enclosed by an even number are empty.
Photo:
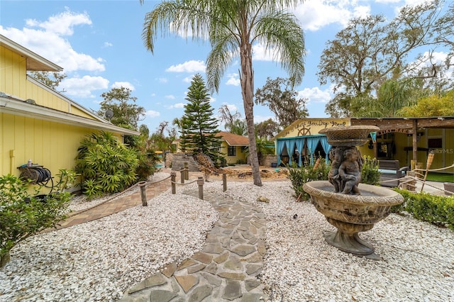
[[[198,197],[198,191],[190,195]],[[204,193],[219,212],[204,249],[179,266],[167,264],[129,289],[131,301],[264,301],[258,274],[265,255],[265,216],[247,203]]]

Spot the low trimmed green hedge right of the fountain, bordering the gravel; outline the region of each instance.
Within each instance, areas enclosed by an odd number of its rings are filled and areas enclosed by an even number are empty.
[[[394,189],[404,196],[404,203],[393,206],[392,212],[406,211],[418,220],[435,225],[447,225],[454,230],[454,196],[438,196]]]

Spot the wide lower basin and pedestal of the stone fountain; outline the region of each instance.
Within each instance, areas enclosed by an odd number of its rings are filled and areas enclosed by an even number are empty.
[[[369,184],[358,185],[361,195],[335,193],[329,181],[309,181],[303,189],[311,196],[317,211],[338,228],[337,232],[325,234],[326,242],[360,256],[372,255],[375,249],[358,233],[371,230],[389,215],[392,206],[404,202],[397,192]]]

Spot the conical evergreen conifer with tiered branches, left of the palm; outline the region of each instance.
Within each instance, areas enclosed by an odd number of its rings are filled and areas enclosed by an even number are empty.
[[[181,119],[181,146],[185,152],[204,153],[216,162],[220,157],[221,142],[215,135],[219,132],[214,108],[209,102],[209,91],[200,74],[192,78],[187,93],[188,104],[184,106]]]

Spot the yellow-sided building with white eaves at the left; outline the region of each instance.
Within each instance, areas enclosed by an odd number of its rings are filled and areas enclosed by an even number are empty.
[[[41,84],[27,71],[60,72],[62,68],[0,35],[0,172],[40,164],[52,175],[72,169],[79,143],[101,130],[123,135],[137,131],[112,125],[87,108]]]

